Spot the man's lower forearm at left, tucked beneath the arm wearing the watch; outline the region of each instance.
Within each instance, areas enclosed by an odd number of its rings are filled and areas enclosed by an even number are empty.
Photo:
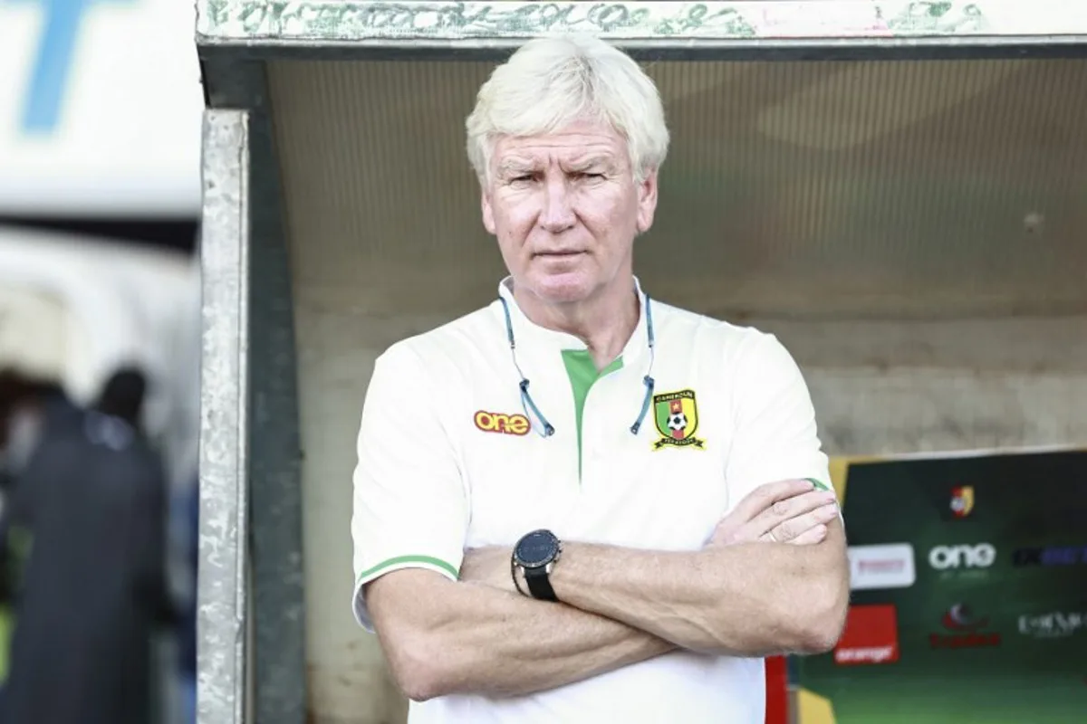
[[[393,576],[399,577],[396,597],[375,596],[376,588]],[[570,606],[433,576],[426,571],[390,573],[385,576],[389,581],[371,584],[367,596],[392,672],[412,699],[527,695],[675,648],[644,631]],[[392,615],[383,606],[398,610]]]

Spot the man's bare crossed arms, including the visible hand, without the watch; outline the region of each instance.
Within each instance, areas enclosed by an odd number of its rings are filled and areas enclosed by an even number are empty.
[[[511,550],[484,548],[458,582],[421,570],[377,579],[371,615],[397,683],[418,701],[532,694],[678,648],[826,651],[848,602],[845,534],[833,493],[810,488],[754,491],[699,551],[564,543],[551,574],[561,604],[515,593]]]

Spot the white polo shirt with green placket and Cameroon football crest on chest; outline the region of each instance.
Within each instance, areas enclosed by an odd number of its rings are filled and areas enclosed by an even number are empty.
[[[637,329],[598,374],[585,344],[528,321],[508,283],[499,293],[517,364],[554,434],[537,434],[523,407],[497,300],[377,359],[351,522],[354,613],[367,630],[362,586],[390,571],[455,579],[466,548],[513,546],[539,528],[566,541],[696,550],[758,485],[829,481],[807,385],[774,336],[651,301],[651,355],[639,287]],[[654,397],[632,434],[647,373]],[[764,682],[761,659],[679,651],[528,697],[412,702],[409,721],[761,724]]]

